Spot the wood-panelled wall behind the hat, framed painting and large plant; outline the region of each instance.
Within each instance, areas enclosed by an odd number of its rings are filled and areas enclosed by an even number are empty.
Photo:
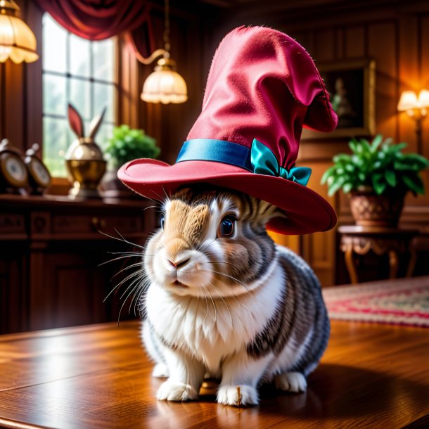
[[[283,30],[297,39],[317,62],[373,58],[376,61],[376,132],[395,141],[409,143],[409,151],[429,156],[429,120],[423,122],[423,143],[416,140],[415,122],[397,113],[397,102],[405,89],[429,89],[429,3],[408,1],[335,2],[301,1],[300,4],[271,2],[251,3],[236,9],[233,24],[264,23]],[[326,196],[326,187],[319,184],[321,174],[331,165],[335,153],[349,152],[347,139],[302,141],[299,165],[312,167],[309,187]],[[429,174],[423,174],[429,190]],[[347,196],[331,199],[340,224],[352,222]],[[426,196],[406,198],[402,224],[418,228],[421,260],[429,251],[429,191]],[[288,243],[290,238],[282,243]],[[312,265],[324,285],[338,281],[338,238],[335,231],[304,236],[300,252]],[[425,244],[426,243],[426,244]],[[341,261],[340,261],[341,262]],[[419,262],[418,262],[419,267]],[[423,264],[420,263],[420,267]],[[339,268],[341,269],[341,268]],[[426,268],[428,270],[428,268]],[[420,274],[428,271],[418,271]]]

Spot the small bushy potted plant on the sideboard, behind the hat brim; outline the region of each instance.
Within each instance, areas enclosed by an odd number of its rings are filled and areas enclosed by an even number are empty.
[[[143,129],[131,129],[122,124],[113,129],[113,136],[104,148],[109,162],[109,171],[102,183],[104,197],[130,197],[134,193],[117,179],[117,169],[125,162],[137,158],[157,158],[160,148],[156,140],[145,134]]]

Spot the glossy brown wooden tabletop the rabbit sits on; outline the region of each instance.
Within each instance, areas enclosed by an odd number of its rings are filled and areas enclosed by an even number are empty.
[[[333,322],[303,394],[261,390],[260,406],[158,402],[162,380],[139,323],[0,337],[0,426],[8,428],[402,428],[429,423],[429,332]],[[423,423],[422,423],[423,422]],[[24,424],[23,424],[24,423]],[[416,426],[417,427],[417,426]]]

